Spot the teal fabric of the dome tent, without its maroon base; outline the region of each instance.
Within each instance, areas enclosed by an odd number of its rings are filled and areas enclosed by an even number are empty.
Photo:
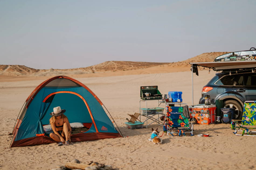
[[[117,133],[117,136],[120,136],[105,110],[91,92],[82,86],[68,88],[58,86],[43,87],[37,92],[26,110],[14,141],[42,136],[44,134],[43,125],[49,124],[51,117],[49,113],[53,111],[53,107],[57,106],[66,110],[64,114],[70,123],[92,123],[91,128],[84,133]]]

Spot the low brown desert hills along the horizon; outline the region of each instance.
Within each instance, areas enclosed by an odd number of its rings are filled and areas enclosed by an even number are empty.
[[[181,62],[156,63],[156,62],[129,62],[129,61],[107,61],[94,66],[71,68],[71,69],[47,69],[39,70],[23,65],[0,65],[0,75],[17,76],[54,76],[54,75],[78,75],[89,73],[104,73],[115,71],[140,70],[138,74],[154,73],[154,70],[165,72],[188,71],[189,62],[212,62],[217,56],[228,52],[210,52]],[[158,68],[159,67],[159,68]],[[142,69],[142,70],[141,70]],[[157,70],[158,69],[158,70]]]

